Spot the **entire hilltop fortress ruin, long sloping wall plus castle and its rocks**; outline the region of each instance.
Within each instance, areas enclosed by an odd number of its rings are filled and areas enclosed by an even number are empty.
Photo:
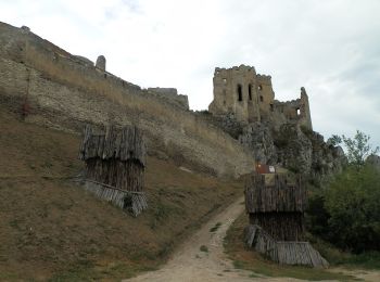
[[[262,163],[319,179],[341,167],[342,152],[313,131],[305,89],[279,102],[270,76],[245,65],[216,67],[210,111],[192,112],[175,88],[142,89],[109,73],[104,55],[93,63],[0,23],[0,101],[60,130],[137,126],[148,154],[215,176],[239,177]]]

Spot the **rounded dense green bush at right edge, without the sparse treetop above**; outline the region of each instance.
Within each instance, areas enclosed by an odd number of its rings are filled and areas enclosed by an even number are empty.
[[[355,253],[380,251],[380,174],[373,166],[350,166],[325,193],[329,239]]]

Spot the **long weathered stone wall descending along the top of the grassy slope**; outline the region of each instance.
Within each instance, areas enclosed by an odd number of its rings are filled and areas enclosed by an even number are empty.
[[[27,120],[78,132],[85,123],[136,125],[151,151],[179,156],[219,176],[253,170],[253,158],[227,133],[147,90],[89,66],[36,35],[0,23],[0,102]]]

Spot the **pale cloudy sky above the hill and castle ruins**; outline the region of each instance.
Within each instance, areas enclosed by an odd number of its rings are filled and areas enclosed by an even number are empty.
[[[379,0],[0,0],[0,21],[26,25],[73,54],[145,87],[175,87],[207,108],[216,66],[271,75],[277,100],[309,95],[326,138],[356,129],[380,145]]]

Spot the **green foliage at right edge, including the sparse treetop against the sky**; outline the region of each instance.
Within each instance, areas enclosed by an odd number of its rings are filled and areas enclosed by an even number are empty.
[[[380,251],[380,174],[365,163],[379,148],[372,149],[369,140],[359,130],[354,138],[332,136],[328,140],[330,145],[343,143],[349,166],[311,198],[308,210],[312,232],[355,253]]]

